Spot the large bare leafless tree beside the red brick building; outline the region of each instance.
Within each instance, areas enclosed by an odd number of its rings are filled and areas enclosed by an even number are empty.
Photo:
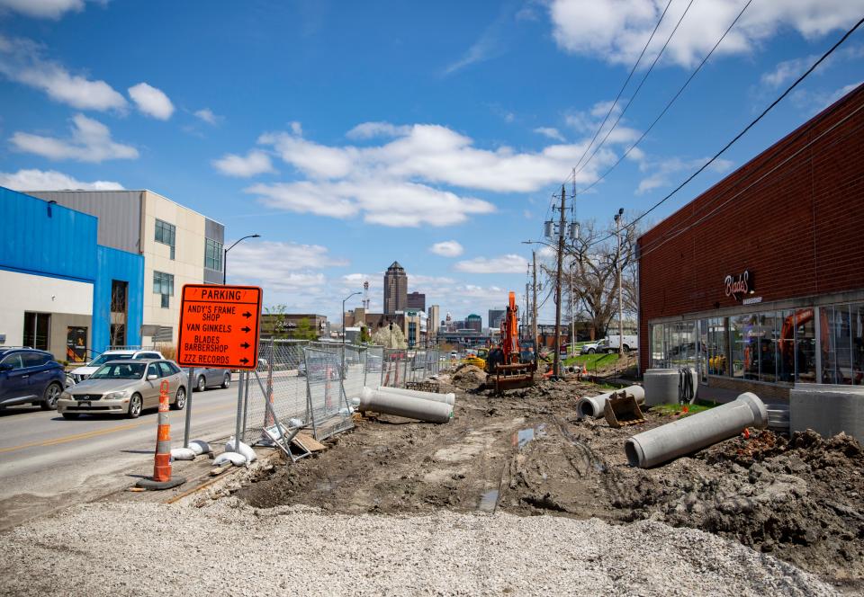
[[[621,229],[621,287],[624,317],[635,318],[635,227]],[[582,223],[579,237],[565,248],[563,291],[572,286],[573,316],[588,325],[592,339],[607,335],[617,317],[617,241],[615,228],[597,227],[591,220]],[[545,263],[543,270],[554,284],[555,268]],[[572,285],[566,276],[572,272]]]

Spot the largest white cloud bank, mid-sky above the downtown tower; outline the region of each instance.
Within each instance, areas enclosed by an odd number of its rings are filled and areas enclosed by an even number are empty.
[[[364,123],[358,138],[386,135],[378,143],[327,146],[292,132],[268,132],[258,144],[273,148],[296,170],[294,180],[258,183],[246,192],[276,209],[331,218],[363,218],[392,227],[451,226],[495,211],[463,190],[535,192],[561,181],[587,144],[555,144],[535,152],[474,147],[472,138],[434,124]],[[593,180],[617,157],[610,147],[633,138],[622,127],[577,183]],[[445,187],[445,188],[439,188]]]

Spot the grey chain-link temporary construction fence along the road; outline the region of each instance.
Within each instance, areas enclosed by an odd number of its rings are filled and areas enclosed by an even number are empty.
[[[365,386],[407,388],[437,375],[440,362],[437,349],[275,339],[261,341],[258,357],[238,389],[237,429],[249,445],[269,443],[273,430],[278,438],[303,427],[319,441],[346,431]]]

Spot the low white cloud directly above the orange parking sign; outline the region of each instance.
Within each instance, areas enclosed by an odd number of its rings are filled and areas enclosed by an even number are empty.
[[[319,270],[347,264],[345,259],[332,257],[325,246],[253,240],[231,249],[227,272],[231,281],[260,285],[267,296],[298,289],[324,290],[327,278]]]

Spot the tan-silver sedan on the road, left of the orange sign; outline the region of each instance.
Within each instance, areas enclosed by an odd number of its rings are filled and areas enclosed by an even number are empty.
[[[159,387],[168,382],[171,408],[186,405],[186,376],[173,361],[124,359],[108,361],[93,375],[60,395],[57,410],[66,419],[78,415],[125,414],[137,418],[145,408],[159,405]]]

